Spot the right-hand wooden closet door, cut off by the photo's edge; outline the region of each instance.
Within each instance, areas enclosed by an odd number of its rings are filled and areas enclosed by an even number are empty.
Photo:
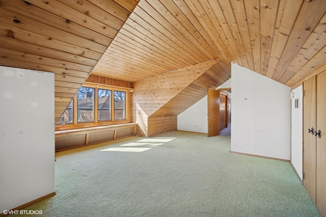
[[[326,71],[317,75],[316,83],[316,205],[326,216]],[[315,133],[316,134],[316,133]]]

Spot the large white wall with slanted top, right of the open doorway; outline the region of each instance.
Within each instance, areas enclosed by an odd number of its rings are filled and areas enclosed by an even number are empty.
[[[231,151],[290,160],[290,88],[231,64]]]

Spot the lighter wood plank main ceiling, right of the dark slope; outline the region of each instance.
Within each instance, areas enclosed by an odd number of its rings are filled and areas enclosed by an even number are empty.
[[[93,73],[137,81],[225,59],[293,86],[326,64],[324,0],[141,0]]]

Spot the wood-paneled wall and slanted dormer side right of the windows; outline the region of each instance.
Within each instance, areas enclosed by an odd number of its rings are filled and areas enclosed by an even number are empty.
[[[172,117],[206,96],[208,88],[216,88],[230,77],[231,68],[224,61],[209,60],[134,82],[131,119],[139,123],[137,134],[150,136],[176,129]]]

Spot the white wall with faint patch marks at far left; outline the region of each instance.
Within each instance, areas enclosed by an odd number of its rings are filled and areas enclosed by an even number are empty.
[[[0,67],[0,213],[55,191],[54,73]]]

